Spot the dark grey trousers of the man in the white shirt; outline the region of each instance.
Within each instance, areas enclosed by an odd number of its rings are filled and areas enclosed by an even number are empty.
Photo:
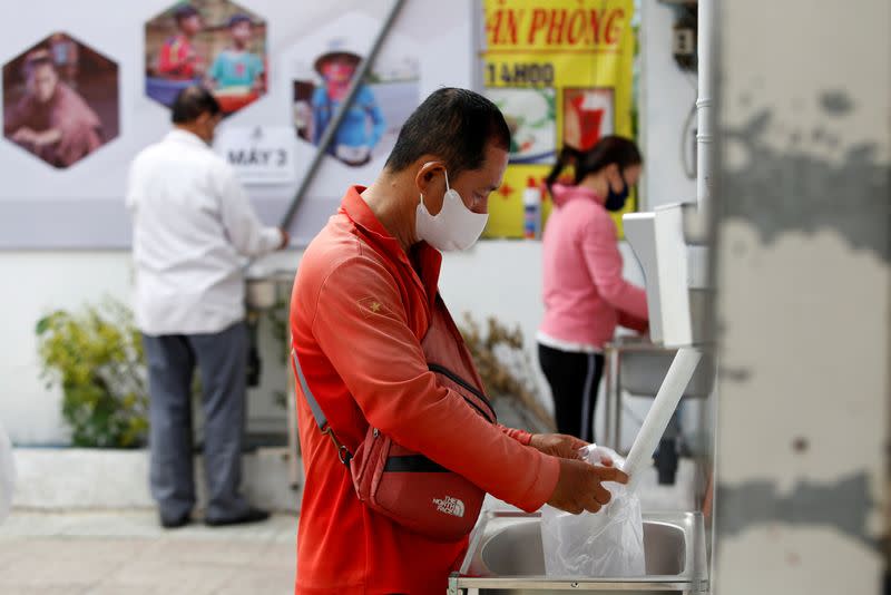
[[[245,418],[247,331],[238,322],[218,333],[143,335],[148,361],[149,485],[160,515],[177,519],[195,506],[192,380],[197,365],[205,417],[207,518],[243,515],[239,495]]]

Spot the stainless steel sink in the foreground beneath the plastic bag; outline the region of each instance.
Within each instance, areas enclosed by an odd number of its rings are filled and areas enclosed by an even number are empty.
[[[450,579],[450,593],[707,592],[705,535],[697,513],[644,514],[646,575],[636,577],[545,576],[540,523],[538,514],[484,513],[460,572]]]

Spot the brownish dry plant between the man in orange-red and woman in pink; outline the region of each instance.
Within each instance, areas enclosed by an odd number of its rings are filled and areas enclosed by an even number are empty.
[[[554,418],[538,399],[520,328],[510,330],[498,319],[490,316],[483,329],[466,312],[460,331],[486,386],[486,392],[495,399],[516,400],[520,411],[531,416],[537,422],[527,421],[527,426],[540,425],[554,429]]]

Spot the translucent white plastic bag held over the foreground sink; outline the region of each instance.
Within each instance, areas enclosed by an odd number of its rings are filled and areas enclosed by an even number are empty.
[[[599,465],[604,455],[621,468],[625,460],[615,451],[591,445],[582,450],[586,460]],[[613,499],[599,513],[572,515],[550,506],[541,509],[541,542],[548,576],[626,577],[643,576],[644,520],[640,500],[620,484],[605,484]]]

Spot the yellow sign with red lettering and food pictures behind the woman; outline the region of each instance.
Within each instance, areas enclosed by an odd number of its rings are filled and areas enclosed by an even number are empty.
[[[530,177],[544,181],[560,147],[587,150],[606,135],[631,136],[634,0],[483,6],[486,94],[512,135],[505,183],[489,201],[486,236],[523,237],[523,191]],[[542,221],[549,206],[545,197]],[[626,208],[635,211],[636,201]],[[616,223],[621,230],[621,213]]]

